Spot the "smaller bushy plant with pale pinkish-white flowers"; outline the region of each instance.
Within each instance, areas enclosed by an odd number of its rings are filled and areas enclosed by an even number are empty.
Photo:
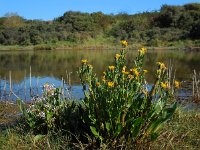
[[[26,123],[36,133],[59,129],[78,131],[79,105],[63,98],[61,89],[55,88],[52,84],[43,85],[42,97],[35,97],[28,108],[23,101],[17,100],[17,102]]]

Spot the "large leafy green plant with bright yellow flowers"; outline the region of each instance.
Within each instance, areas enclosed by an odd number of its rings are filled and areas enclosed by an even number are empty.
[[[172,87],[178,87],[179,82],[170,85],[164,63],[157,63],[156,81],[151,86],[145,80],[147,70],[143,67],[147,49],[139,49],[133,67],[128,68],[128,43],[121,44],[123,48],[116,54],[114,64],[108,66],[101,79],[88,60],[82,60],[79,68],[86,108],[82,117],[97,147],[134,148],[153,141],[176,109],[176,103],[169,101],[174,98]]]

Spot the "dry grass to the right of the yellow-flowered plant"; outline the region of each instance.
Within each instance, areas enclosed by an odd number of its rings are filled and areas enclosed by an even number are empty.
[[[150,149],[200,149],[200,112],[178,108],[173,119],[164,125],[158,140]]]

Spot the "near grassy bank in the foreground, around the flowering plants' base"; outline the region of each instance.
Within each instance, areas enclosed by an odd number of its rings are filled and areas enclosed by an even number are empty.
[[[159,138],[139,149],[193,149],[200,148],[200,112],[184,111],[182,107],[176,110],[170,122],[164,124]],[[88,145],[71,141],[70,133],[63,136],[60,133],[49,133],[45,136],[35,136],[26,132],[23,125],[7,128],[0,133],[0,149],[81,149]],[[89,143],[91,144],[91,143]],[[127,145],[128,148],[131,145]],[[104,145],[105,149],[106,146]],[[104,149],[102,147],[102,149]]]

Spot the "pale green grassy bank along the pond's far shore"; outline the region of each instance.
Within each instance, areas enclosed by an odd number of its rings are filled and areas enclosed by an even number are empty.
[[[59,41],[56,43],[38,44],[38,45],[0,45],[0,51],[3,50],[56,50],[56,49],[119,49],[118,41],[114,38],[105,38],[98,36],[97,38],[90,38],[84,42],[68,42]],[[193,50],[193,48],[200,47],[200,40],[182,40],[172,42],[159,42],[156,45],[148,45],[148,43],[129,43],[130,49],[137,49],[146,46],[148,49],[186,49]]]

